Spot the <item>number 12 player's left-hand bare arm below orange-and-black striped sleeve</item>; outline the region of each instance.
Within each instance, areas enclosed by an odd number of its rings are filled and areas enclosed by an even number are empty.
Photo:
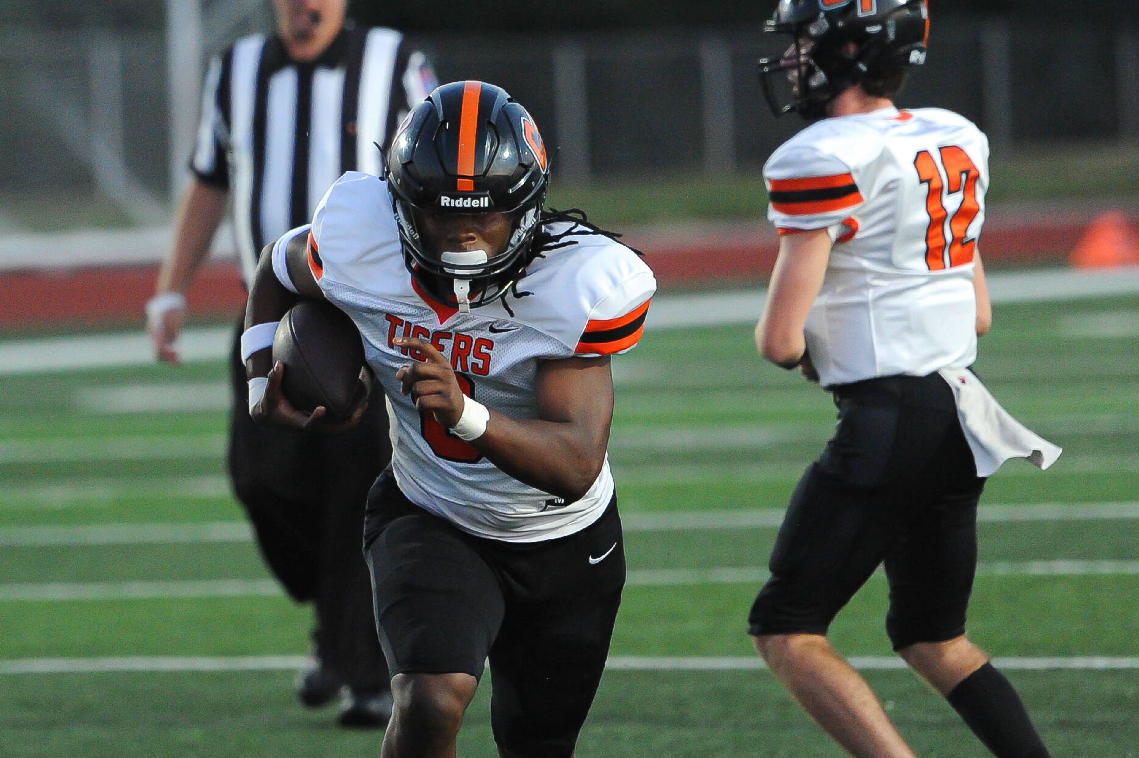
[[[779,240],[779,257],[771,273],[768,302],[755,327],[756,347],[776,365],[785,369],[800,364],[810,366],[803,329],[822,287],[830,247],[826,229],[784,234]],[[804,376],[811,378],[806,371]]]

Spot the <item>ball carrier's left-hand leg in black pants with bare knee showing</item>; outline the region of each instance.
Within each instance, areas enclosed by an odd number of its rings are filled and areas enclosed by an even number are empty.
[[[505,602],[474,538],[407,501],[391,471],[368,496],[364,551],[394,706],[384,758],[454,755]]]

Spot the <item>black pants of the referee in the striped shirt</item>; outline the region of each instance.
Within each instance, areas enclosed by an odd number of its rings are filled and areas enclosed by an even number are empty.
[[[238,322],[230,355],[229,476],[269,568],[297,602],[313,602],[321,662],[351,687],[388,687],[362,552],[368,491],[392,456],[383,397],[337,434],[261,428],[249,418]]]

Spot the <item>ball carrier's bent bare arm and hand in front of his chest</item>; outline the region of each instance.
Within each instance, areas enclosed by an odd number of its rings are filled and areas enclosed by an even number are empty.
[[[420,412],[446,428],[459,423],[462,390],[450,362],[429,343],[396,338],[419,351],[395,378]],[[579,500],[605,462],[613,420],[613,376],[608,357],[543,361],[536,378],[538,419],[511,419],[490,409],[486,431],[470,442],[515,479],[567,502]]]

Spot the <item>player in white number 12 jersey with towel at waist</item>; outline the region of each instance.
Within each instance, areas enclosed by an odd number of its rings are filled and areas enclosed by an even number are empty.
[[[965,635],[984,477],[1059,454],[967,369],[991,322],[988,141],[954,113],[894,107],[925,60],[924,0],[781,0],[767,31],[792,40],[760,61],[772,110],[813,123],[764,167],[781,237],[756,345],[830,390],[839,423],[792,496],[748,619],[755,646],[851,753],[912,757],[827,640],[885,563],[898,653],[994,755],[1043,758],[1015,689]]]

